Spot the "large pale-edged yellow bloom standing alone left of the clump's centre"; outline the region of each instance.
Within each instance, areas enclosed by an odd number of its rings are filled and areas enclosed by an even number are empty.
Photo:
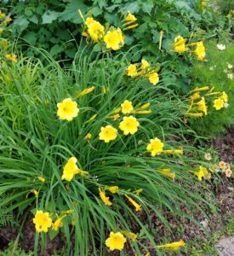
[[[66,98],[62,102],[57,104],[58,111],[57,115],[60,119],[71,121],[77,117],[79,109],[77,108],[77,102],[73,102],[71,98]]]

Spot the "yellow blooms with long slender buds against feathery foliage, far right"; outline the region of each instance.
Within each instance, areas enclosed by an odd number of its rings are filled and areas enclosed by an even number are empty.
[[[208,92],[201,96],[201,92],[208,90]],[[204,86],[201,88],[196,88],[195,90],[191,90],[191,96],[190,96],[190,106],[188,110],[186,111],[186,116],[191,117],[202,117],[203,115],[208,114],[208,107],[207,103],[205,101],[205,96],[219,96],[217,99],[214,100],[214,108],[216,110],[220,110],[221,108],[227,108],[228,107],[228,96],[223,92],[214,92],[214,87],[209,88],[208,86]],[[197,112],[198,111],[198,112]]]

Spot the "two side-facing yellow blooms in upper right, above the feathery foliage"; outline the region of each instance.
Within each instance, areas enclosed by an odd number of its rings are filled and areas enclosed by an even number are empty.
[[[177,53],[184,53],[186,51],[190,51],[191,53],[194,53],[195,55],[197,55],[198,61],[203,61],[206,55],[203,41],[191,43],[191,44],[185,44],[186,40],[187,39],[181,36],[174,38],[174,43],[171,44],[174,47],[173,51]],[[189,47],[195,47],[195,49],[190,50]]]

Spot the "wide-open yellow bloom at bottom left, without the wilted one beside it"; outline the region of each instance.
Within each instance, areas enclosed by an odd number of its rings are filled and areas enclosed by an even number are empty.
[[[52,225],[52,219],[49,218],[49,212],[37,211],[33,223],[37,232],[48,232]]]

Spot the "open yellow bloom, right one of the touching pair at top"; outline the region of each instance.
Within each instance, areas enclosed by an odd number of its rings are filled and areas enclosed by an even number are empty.
[[[117,50],[123,47],[124,40],[121,29],[118,27],[117,29],[112,28],[109,30],[104,37],[104,42],[107,49]]]

